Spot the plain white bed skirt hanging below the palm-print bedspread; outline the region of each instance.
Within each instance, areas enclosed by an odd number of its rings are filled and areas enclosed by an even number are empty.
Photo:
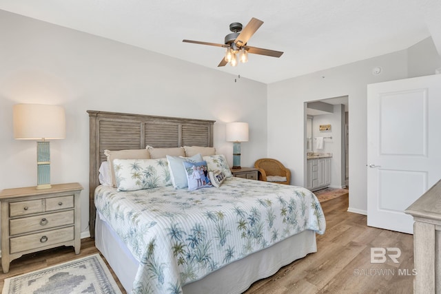
[[[95,222],[95,246],[112,266],[125,291],[131,293],[139,262],[99,213]],[[274,275],[282,266],[316,251],[316,232],[303,231],[186,284],[183,293],[242,293],[253,282]]]

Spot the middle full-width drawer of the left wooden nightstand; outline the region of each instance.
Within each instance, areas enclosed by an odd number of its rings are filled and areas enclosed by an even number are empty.
[[[10,235],[29,233],[43,229],[52,229],[74,223],[74,211],[48,213],[29,218],[17,218],[9,221]]]

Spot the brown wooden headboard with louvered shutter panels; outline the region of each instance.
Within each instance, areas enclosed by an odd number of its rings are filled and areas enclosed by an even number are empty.
[[[214,120],[121,114],[88,110],[90,118],[90,235],[95,235],[94,192],[99,167],[107,160],[104,150],[203,146],[213,147]]]

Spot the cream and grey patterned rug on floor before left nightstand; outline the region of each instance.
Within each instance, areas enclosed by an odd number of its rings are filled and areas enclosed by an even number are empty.
[[[121,294],[98,253],[5,279],[2,294]]]

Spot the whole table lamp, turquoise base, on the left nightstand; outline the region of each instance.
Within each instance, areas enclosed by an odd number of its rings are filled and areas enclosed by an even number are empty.
[[[13,109],[14,138],[37,141],[37,189],[50,189],[48,139],[65,138],[65,112],[57,105],[17,104]]]

